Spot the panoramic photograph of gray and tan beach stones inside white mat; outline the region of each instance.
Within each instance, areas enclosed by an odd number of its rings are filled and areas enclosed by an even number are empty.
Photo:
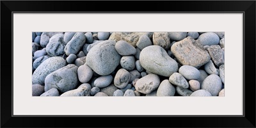
[[[224,97],[225,32],[32,32],[32,96]]]

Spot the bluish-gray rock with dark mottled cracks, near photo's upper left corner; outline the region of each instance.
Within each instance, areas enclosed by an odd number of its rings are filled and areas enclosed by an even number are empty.
[[[66,43],[63,40],[64,35],[62,33],[52,36],[49,40],[49,44],[46,45],[46,52],[49,56],[59,56],[64,54],[64,47]]]

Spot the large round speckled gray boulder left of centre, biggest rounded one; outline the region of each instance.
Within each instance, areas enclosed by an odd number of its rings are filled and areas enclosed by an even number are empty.
[[[86,56],[86,64],[101,76],[111,74],[121,59],[115,44],[113,40],[106,40],[95,45]]]

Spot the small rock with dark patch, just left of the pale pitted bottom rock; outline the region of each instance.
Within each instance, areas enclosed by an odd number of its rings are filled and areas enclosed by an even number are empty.
[[[125,88],[130,81],[130,73],[124,68],[120,68],[115,75],[114,84],[117,88]]]

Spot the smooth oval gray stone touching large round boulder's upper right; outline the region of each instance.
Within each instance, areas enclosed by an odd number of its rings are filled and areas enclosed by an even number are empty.
[[[119,40],[118,42],[116,42],[115,48],[118,54],[122,56],[129,56],[132,54],[136,54],[135,47],[133,47],[128,42],[125,42],[124,40]]]

